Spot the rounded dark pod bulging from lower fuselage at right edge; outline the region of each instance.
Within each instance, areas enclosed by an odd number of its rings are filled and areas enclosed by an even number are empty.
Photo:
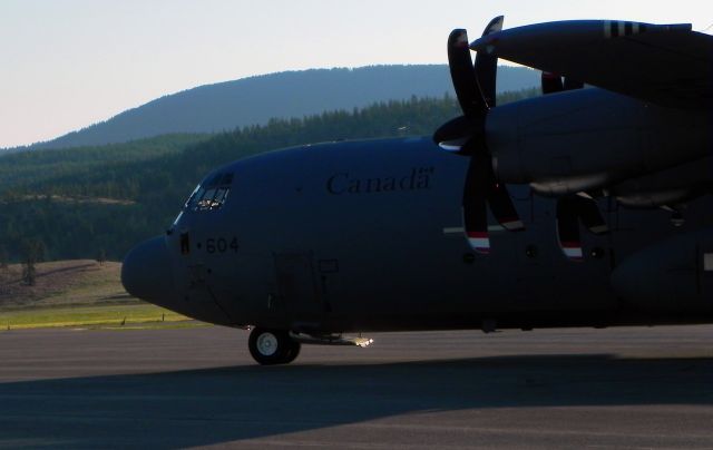
[[[713,228],[674,236],[625,260],[612,286],[643,311],[713,311]]]

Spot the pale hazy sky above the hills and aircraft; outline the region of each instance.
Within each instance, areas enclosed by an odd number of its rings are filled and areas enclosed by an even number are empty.
[[[665,6],[663,6],[665,4]],[[316,67],[445,63],[453,28],[563,19],[713,26],[710,1],[0,0],[0,147],[166,94]],[[707,32],[711,32],[709,29]]]

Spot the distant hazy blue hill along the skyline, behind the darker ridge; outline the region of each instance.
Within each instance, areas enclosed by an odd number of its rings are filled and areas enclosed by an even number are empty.
[[[498,90],[539,86],[539,72],[501,66]],[[304,117],[326,110],[364,107],[411,96],[452,95],[448,67],[373,66],[314,69],[244,78],[165,96],[31,148],[67,148],[125,143],[166,134],[196,134],[264,125],[268,119]]]

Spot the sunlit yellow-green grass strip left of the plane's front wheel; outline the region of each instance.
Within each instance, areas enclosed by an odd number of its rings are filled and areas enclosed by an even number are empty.
[[[188,317],[152,304],[29,307],[0,311],[0,330],[89,326],[152,327],[178,325]],[[184,323],[182,325],[186,325]]]

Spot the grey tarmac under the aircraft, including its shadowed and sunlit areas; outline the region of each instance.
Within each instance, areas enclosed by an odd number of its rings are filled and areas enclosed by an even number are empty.
[[[713,448],[713,326],[377,334],[268,368],[247,334],[0,332],[0,447]]]

